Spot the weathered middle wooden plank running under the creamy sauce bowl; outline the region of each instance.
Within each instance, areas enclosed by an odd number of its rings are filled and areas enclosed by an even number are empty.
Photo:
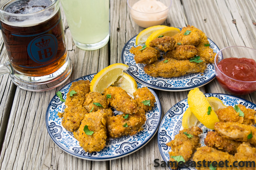
[[[183,27],[186,26],[184,11],[180,1],[173,1],[167,20],[163,25]],[[110,1],[110,64],[121,62],[120,56],[123,46],[132,37],[137,35],[144,28],[139,27],[130,17],[129,7],[125,0]],[[203,88],[202,88],[203,89]],[[162,104],[162,116],[171,106],[187,97],[188,91],[185,92],[164,92],[155,90],[160,97]],[[112,160],[111,169],[155,169],[154,160],[163,161],[158,149],[157,135],[139,151],[126,157]],[[167,168],[168,169],[168,168]]]

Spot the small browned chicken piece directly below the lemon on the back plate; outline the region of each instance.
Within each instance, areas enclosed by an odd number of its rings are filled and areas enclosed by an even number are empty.
[[[174,49],[176,41],[174,38],[169,36],[163,36],[160,38],[156,38],[149,42],[149,46],[156,47],[157,49],[167,52]]]

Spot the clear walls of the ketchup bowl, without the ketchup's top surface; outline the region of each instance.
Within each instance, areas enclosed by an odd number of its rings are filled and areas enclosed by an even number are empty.
[[[215,74],[221,87],[235,95],[245,95],[256,91],[256,81],[241,81],[232,77],[226,76],[219,68],[218,64],[226,58],[247,58],[256,61],[256,50],[243,47],[231,46],[221,49],[215,56]],[[256,75],[256,73],[254,73]]]

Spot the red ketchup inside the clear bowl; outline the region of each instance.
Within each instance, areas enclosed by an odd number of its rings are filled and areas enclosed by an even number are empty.
[[[256,91],[255,60],[231,57],[221,60],[217,66],[224,74],[216,69],[216,77],[224,90],[237,95],[245,95]]]

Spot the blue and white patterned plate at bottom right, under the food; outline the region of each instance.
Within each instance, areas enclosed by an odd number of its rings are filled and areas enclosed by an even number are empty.
[[[221,93],[205,93],[205,97],[218,97],[220,100],[222,100],[223,104],[226,106],[234,106],[237,104],[242,104],[246,108],[256,110],[256,104],[233,95],[221,94]],[[159,130],[158,130],[157,140],[158,140],[158,147],[159,147],[160,154],[162,156],[163,161],[165,162],[170,160],[170,156],[168,152],[171,151],[171,147],[167,146],[166,143],[173,140],[175,135],[177,135],[179,131],[183,129],[183,127],[181,126],[181,120],[182,120],[183,113],[185,112],[185,110],[187,110],[187,108],[188,108],[188,103],[186,98],[176,103],[170,110],[168,110],[161,121]],[[207,132],[212,130],[205,127],[201,123],[199,123],[198,125],[203,130],[203,133],[199,135],[200,143],[202,146],[205,146],[204,138],[206,137]],[[183,168],[179,168],[179,170],[180,169],[196,170],[195,168],[192,168],[192,167],[188,167],[188,168],[183,167]]]

